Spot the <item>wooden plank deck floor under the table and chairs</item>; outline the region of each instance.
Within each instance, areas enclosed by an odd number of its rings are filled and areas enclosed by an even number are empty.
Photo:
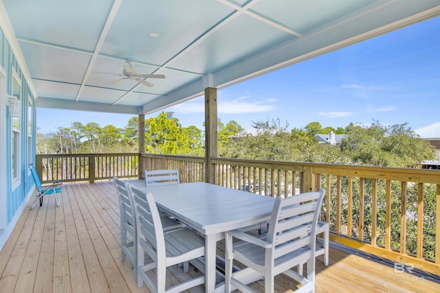
[[[63,185],[60,207],[23,211],[0,252],[1,292],[148,292],[137,288],[128,261],[120,261],[118,198],[112,181]],[[221,245],[219,245],[221,247]],[[332,247],[330,265],[317,261],[316,292],[440,292],[426,277]],[[196,272],[191,271],[191,274]],[[167,279],[184,279],[178,268]],[[263,283],[254,290],[263,292]],[[191,292],[204,292],[203,286]],[[276,292],[296,288],[276,278]]]

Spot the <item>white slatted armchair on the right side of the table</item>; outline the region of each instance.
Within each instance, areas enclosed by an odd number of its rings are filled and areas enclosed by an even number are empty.
[[[320,189],[276,198],[269,230],[263,235],[254,237],[237,230],[226,232],[226,292],[231,292],[232,286],[242,292],[254,292],[243,281],[250,271],[264,277],[266,293],[274,292],[274,277],[281,273],[303,284],[296,292],[314,292],[316,224],[324,194],[325,190]],[[233,237],[241,241],[233,243]],[[234,259],[248,268],[232,273]],[[292,270],[305,262],[307,277]]]

